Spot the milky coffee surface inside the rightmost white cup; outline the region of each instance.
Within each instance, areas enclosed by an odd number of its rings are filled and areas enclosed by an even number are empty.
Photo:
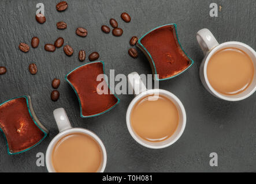
[[[253,81],[254,64],[244,51],[238,48],[224,48],[210,58],[207,78],[218,93],[239,94]]]

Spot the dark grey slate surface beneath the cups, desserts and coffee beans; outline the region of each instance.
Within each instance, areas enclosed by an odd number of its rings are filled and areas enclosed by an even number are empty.
[[[46,22],[35,20],[36,3],[45,7]],[[107,172],[179,172],[179,171],[256,171],[256,94],[240,102],[227,102],[207,93],[199,79],[199,65],[203,52],[195,39],[199,29],[208,28],[219,43],[241,41],[256,49],[256,1],[216,0],[222,6],[218,17],[209,16],[213,1],[68,1],[68,9],[58,12],[58,1],[1,1],[0,2],[0,66],[8,72],[0,76],[0,102],[28,94],[32,97],[39,120],[50,130],[49,136],[38,146],[20,155],[7,154],[5,139],[0,136],[1,172],[46,172],[36,166],[36,154],[45,154],[47,145],[57,135],[53,110],[66,109],[73,127],[88,128],[101,137],[107,150]],[[132,18],[128,24],[120,18],[127,11]],[[115,18],[123,36],[114,37],[101,31]],[[68,28],[58,30],[56,22],[65,21]],[[162,150],[142,147],[129,135],[125,113],[133,95],[118,95],[116,108],[93,118],[80,118],[75,93],[64,81],[73,68],[87,62],[77,58],[80,49],[87,53],[98,51],[105,61],[105,71],[116,74],[151,74],[146,57],[139,52],[138,59],[129,57],[129,39],[159,25],[175,22],[180,43],[195,64],[184,74],[160,82],[162,89],[177,97],[187,112],[187,126],[175,144]],[[77,27],[88,30],[87,37],[75,34]],[[39,47],[28,53],[18,49],[20,42],[30,45],[31,38],[40,39]],[[44,44],[63,37],[74,49],[73,56],[65,55],[63,48],[44,51]],[[29,74],[28,65],[36,63],[38,73]],[[57,102],[50,99],[51,80],[61,79],[61,93]],[[218,167],[209,166],[210,152],[217,152]]]

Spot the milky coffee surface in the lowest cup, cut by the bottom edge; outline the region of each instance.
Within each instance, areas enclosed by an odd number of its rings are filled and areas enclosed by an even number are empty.
[[[58,173],[94,173],[101,166],[102,151],[91,136],[73,133],[58,141],[51,160]]]

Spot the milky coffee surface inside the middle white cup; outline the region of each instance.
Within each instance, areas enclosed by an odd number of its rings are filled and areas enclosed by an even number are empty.
[[[142,139],[159,142],[168,139],[176,131],[179,112],[169,98],[162,95],[147,96],[135,104],[130,120],[133,130]]]

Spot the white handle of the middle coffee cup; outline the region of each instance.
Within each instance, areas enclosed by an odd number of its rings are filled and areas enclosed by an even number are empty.
[[[142,81],[142,78],[140,78],[137,72],[132,72],[128,75],[128,82],[129,86],[132,87],[135,95],[139,95],[140,93],[147,90],[146,86]]]

